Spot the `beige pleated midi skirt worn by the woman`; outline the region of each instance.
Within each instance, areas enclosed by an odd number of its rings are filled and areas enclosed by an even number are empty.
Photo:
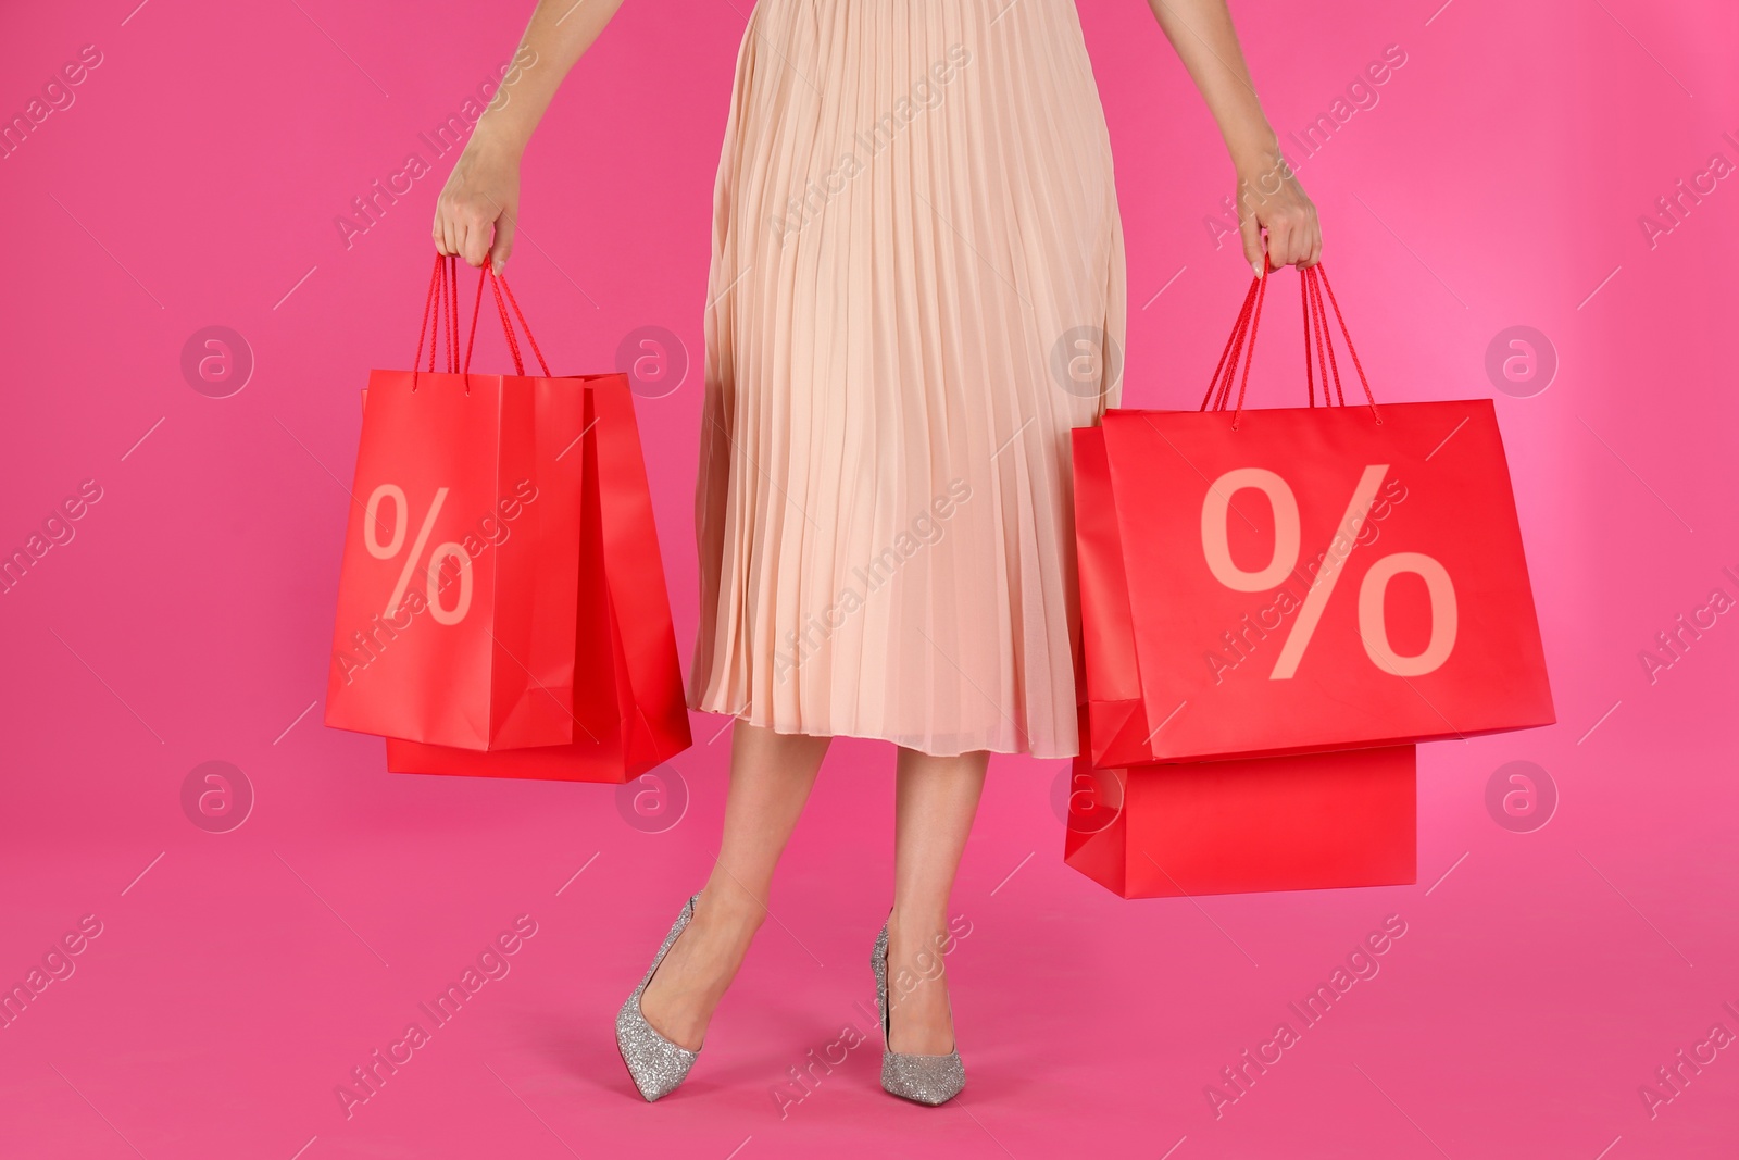
[[[760,0],[718,165],[696,710],[1076,753],[1123,235],[1073,0]]]

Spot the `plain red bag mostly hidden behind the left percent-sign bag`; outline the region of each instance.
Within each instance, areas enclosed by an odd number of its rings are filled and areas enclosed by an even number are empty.
[[[628,379],[600,374],[577,383],[584,388],[584,426],[572,457],[584,470],[579,602],[569,637],[579,657],[574,741],[476,753],[388,737],[391,772],[624,783],[690,744]]]

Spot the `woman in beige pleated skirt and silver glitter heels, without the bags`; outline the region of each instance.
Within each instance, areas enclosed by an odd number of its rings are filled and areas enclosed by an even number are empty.
[[[1313,264],[1224,0],[1149,3],[1226,139],[1245,257],[1266,230],[1271,264]],[[541,0],[539,66],[440,195],[443,254],[506,263],[525,143],[619,5]],[[715,188],[689,687],[737,725],[718,861],[617,1017],[647,1099],[694,1064],[831,736],[897,746],[882,1085],[965,1083],[948,894],[989,753],[1076,753],[1068,438],[1116,405],[1123,299],[1071,0],[760,0]]]

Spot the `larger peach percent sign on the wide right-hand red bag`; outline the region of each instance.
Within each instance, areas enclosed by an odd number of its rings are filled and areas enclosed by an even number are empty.
[[[1341,517],[1334,539],[1322,553],[1322,565],[1316,569],[1309,591],[1304,595],[1304,607],[1299,609],[1299,617],[1292,623],[1292,630],[1280,649],[1275,671],[1268,675],[1269,680],[1290,680],[1297,673],[1299,661],[1304,659],[1304,649],[1309,645],[1309,638],[1316,631],[1316,623],[1329,605],[1329,597],[1341,579],[1346,558],[1358,543],[1358,530],[1365,525],[1365,517],[1377,497],[1377,489],[1383,487],[1383,477],[1388,475],[1388,470],[1389,464],[1374,463],[1358,478],[1358,487],[1353,489],[1353,497],[1346,504],[1346,515]],[[1269,558],[1268,567],[1259,572],[1245,572],[1233,563],[1226,532],[1231,497],[1247,487],[1268,496],[1268,503],[1275,513],[1275,555]],[[1226,588],[1236,591],[1269,591],[1278,588],[1292,574],[1292,569],[1297,567],[1299,537],[1299,501],[1283,478],[1264,468],[1226,471],[1214,480],[1202,499],[1202,553],[1207,557],[1207,567],[1214,572],[1214,579]],[[1423,579],[1431,597],[1431,640],[1426,643],[1424,652],[1410,657],[1400,656],[1389,645],[1389,628],[1383,607],[1389,581],[1402,572],[1412,572]],[[1365,643],[1365,656],[1377,668],[1395,677],[1423,677],[1442,668],[1443,661],[1456,649],[1456,584],[1449,579],[1449,570],[1428,555],[1419,551],[1393,551],[1377,558],[1358,584],[1358,637]]]

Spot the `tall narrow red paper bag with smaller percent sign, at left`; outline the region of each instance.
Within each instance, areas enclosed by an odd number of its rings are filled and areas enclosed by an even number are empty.
[[[470,374],[470,355],[461,372],[450,278],[436,259],[430,370],[369,376],[325,722],[466,750],[572,741],[583,381]]]

